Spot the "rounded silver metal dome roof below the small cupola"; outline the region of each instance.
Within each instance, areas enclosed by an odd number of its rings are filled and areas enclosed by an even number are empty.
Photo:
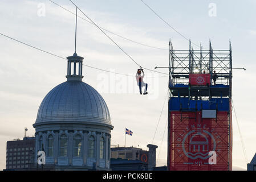
[[[36,118],[40,122],[97,122],[111,124],[107,104],[92,86],[66,81],[44,97]]]

